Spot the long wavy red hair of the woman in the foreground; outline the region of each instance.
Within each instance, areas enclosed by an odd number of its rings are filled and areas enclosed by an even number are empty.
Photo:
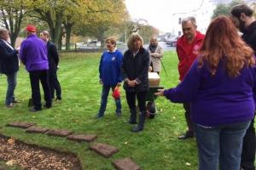
[[[218,68],[220,59],[230,77],[240,74],[242,68],[255,65],[253,49],[241,40],[232,21],[225,16],[212,20],[201,47],[199,67],[207,63],[212,76]]]

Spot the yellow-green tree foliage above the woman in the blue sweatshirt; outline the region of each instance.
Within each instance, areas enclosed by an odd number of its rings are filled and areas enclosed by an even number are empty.
[[[78,23],[76,33],[95,37],[102,42],[102,46],[109,31],[121,26],[128,16],[124,0],[105,0],[104,3],[101,0],[91,1],[87,8],[86,19]]]

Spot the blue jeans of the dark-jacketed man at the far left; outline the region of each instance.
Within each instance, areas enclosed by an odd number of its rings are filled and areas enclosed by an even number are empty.
[[[8,88],[6,92],[5,105],[10,105],[15,100],[15,88],[17,84],[17,72],[6,75]]]

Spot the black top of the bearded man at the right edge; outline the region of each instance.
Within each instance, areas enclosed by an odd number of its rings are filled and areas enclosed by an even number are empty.
[[[253,48],[254,54],[256,54],[256,20],[247,27],[246,31],[242,35],[242,39]]]

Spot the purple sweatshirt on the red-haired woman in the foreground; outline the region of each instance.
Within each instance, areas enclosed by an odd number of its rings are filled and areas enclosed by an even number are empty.
[[[195,59],[183,82],[165,90],[164,95],[174,103],[191,102],[193,122],[215,127],[253,119],[255,86],[255,67],[244,68],[238,77],[230,78],[220,62],[212,76],[207,64],[198,68]]]

